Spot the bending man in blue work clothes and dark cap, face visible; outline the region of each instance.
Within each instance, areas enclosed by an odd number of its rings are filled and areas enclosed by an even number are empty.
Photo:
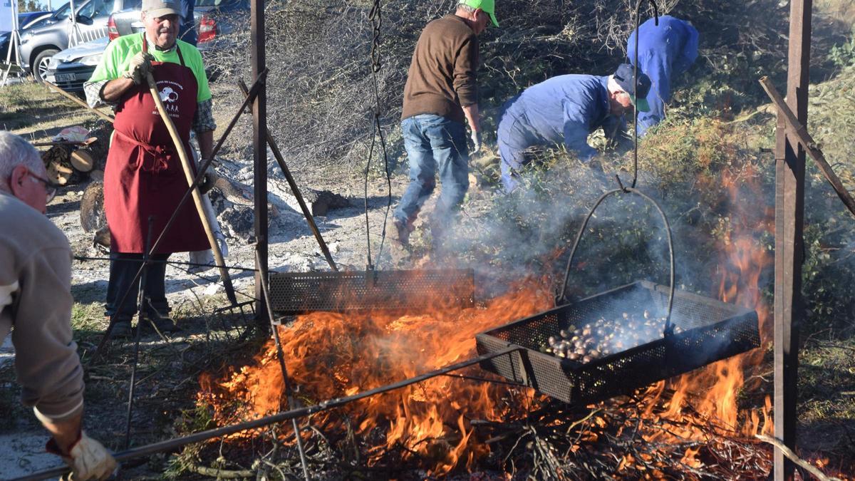
[[[640,111],[648,110],[645,98],[650,79],[639,71],[636,102],[633,70],[632,65],[622,63],[612,75],[559,75],[506,102],[497,133],[504,189],[516,188],[528,147],[563,143],[587,162],[597,155],[587,143],[589,134],[602,127],[613,138],[633,104]]]

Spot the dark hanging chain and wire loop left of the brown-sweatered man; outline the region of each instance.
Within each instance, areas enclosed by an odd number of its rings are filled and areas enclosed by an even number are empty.
[[[371,159],[374,157],[374,145],[380,139],[380,150],[383,151],[383,165],[386,170],[386,214],[383,217],[383,230],[380,232],[380,248],[377,250],[377,257],[380,258],[380,253],[383,252],[383,243],[386,241],[386,222],[389,219],[389,211],[392,209],[392,175],[389,172],[389,158],[386,154],[386,140],[383,138],[383,128],[380,125],[380,86],[377,80],[377,74],[380,73],[382,62],[380,62],[380,27],[383,26],[383,17],[380,11],[380,0],[374,0],[369,12],[369,20],[371,21],[371,78],[374,82],[374,121],[372,122],[373,131],[371,133],[371,146],[369,148],[369,160],[365,164],[365,242],[368,247],[368,269],[374,270],[374,264],[371,261],[371,224],[369,223],[369,171],[371,170]]]

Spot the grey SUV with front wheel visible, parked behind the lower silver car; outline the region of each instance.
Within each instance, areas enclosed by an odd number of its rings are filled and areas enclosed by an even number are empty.
[[[21,68],[37,81],[47,74],[50,57],[68,48],[72,37],[84,43],[107,36],[107,20],[114,9],[121,9],[122,0],[81,0],[74,4],[76,23],[71,21],[71,4],[66,3],[53,15],[33,22],[21,30]]]

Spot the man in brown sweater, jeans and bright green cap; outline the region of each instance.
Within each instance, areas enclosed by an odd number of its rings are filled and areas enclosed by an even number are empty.
[[[469,188],[469,122],[475,151],[481,148],[478,118],[478,35],[487,22],[498,27],[494,0],[460,0],[452,15],[431,21],[413,52],[401,131],[410,163],[410,185],[404,191],[394,223],[406,245],[424,202],[436,187],[442,192],[433,211],[434,243],[454,217]]]

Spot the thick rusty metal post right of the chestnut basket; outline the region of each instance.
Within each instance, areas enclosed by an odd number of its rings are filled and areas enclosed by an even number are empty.
[[[790,2],[787,104],[803,126],[807,126],[812,3]],[[787,134],[781,113],[775,134],[775,437],[795,450],[799,324],[805,312],[801,296],[805,151],[796,137]],[[793,462],[775,449],[775,481],[792,479],[793,471]]]

